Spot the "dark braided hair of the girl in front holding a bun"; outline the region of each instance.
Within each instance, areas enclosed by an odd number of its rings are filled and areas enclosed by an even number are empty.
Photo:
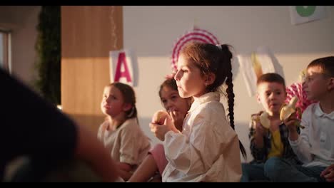
[[[208,92],[217,91],[226,80],[226,93],[228,97],[228,116],[230,117],[230,125],[234,128],[234,93],[232,83],[232,64],[233,55],[228,44],[213,45],[211,43],[191,42],[185,46],[181,53],[188,60],[194,63],[201,71],[202,75],[213,73],[216,79],[211,85],[207,85]],[[240,150],[243,157],[246,157],[246,150],[239,140]]]

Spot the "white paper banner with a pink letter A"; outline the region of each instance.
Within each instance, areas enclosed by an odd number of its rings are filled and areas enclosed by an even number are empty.
[[[138,85],[138,62],[131,50],[111,51],[109,53],[110,80],[126,83],[131,86]]]

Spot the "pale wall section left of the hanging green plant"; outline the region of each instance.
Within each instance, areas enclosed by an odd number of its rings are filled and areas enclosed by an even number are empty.
[[[11,72],[31,85],[36,75],[36,26],[41,6],[0,6],[0,27],[11,30]]]

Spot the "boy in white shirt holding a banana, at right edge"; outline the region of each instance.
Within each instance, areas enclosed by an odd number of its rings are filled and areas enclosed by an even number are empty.
[[[268,177],[274,182],[333,182],[334,181],[334,56],[318,58],[308,65],[303,83],[309,105],[303,113],[297,133],[295,115],[285,121],[289,142],[303,165],[293,165],[277,157],[272,160]],[[332,165],[331,165],[332,164]]]

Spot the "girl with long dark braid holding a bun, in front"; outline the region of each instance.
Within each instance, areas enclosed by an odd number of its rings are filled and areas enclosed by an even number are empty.
[[[163,182],[239,182],[241,158],[246,152],[234,131],[232,53],[227,45],[189,43],[178,58],[175,80],[182,98],[194,102],[178,131],[167,117],[165,125],[151,123],[163,140],[168,164]],[[226,83],[228,115],[218,88]]]

